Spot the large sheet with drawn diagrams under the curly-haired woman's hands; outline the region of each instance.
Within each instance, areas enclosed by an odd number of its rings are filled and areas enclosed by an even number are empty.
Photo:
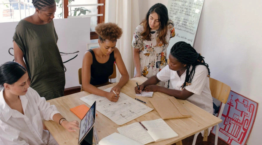
[[[104,91],[110,92],[111,88],[107,88]],[[153,110],[153,108],[136,101],[124,93],[120,93],[119,96],[117,102],[111,102],[106,97],[94,94],[80,99],[89,106],[96,101],[96,110],[118,125],[123,125]]]

